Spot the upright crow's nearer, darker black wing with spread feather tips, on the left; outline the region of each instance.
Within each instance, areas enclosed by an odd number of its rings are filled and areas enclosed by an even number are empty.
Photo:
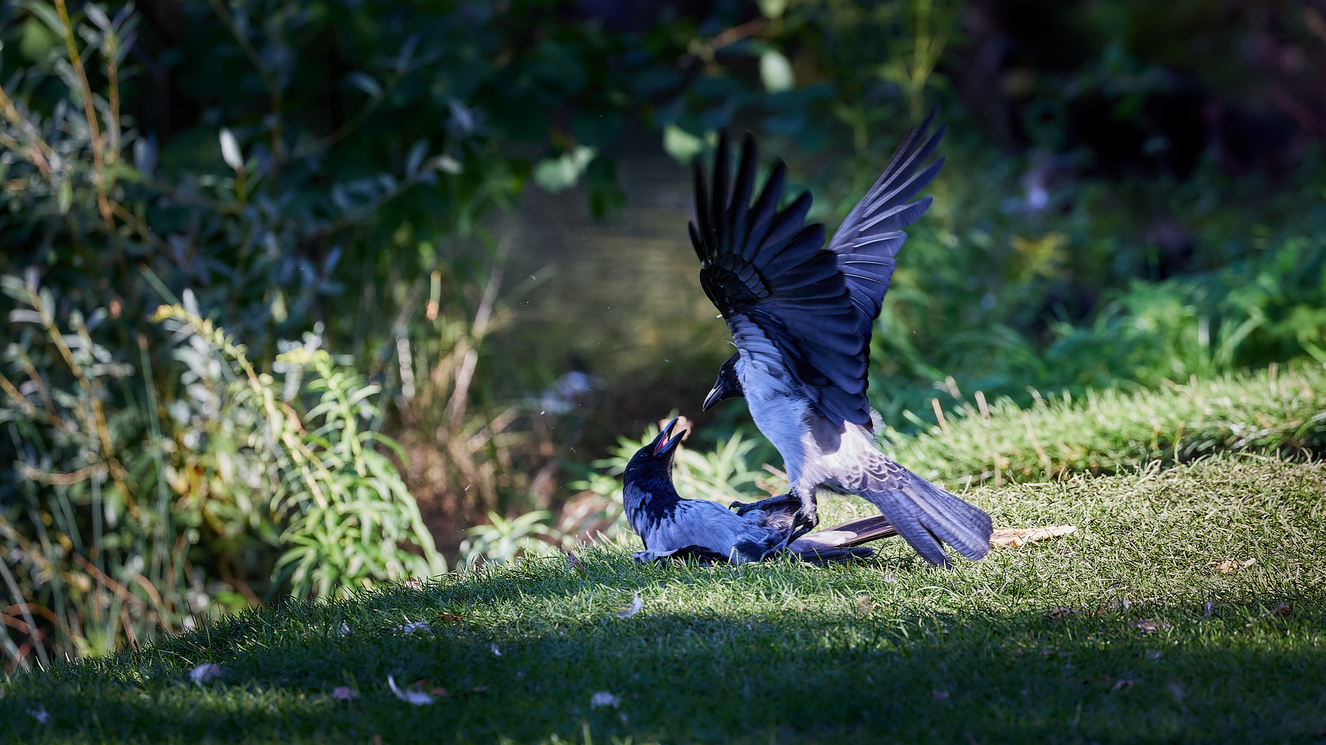
[[[727,137],[719,142],[712,190],[696,163],[699,224],[691,224],[691,243],[700,257],[700,284],[739,346],[757,331],[821,414],[869,426],[869,337],[858,330],[839,256],[823,248],[823,225],[805,225],[809,194],[778,211],[782,163],[751,203],[757,160],[748,135],[731,198]]]

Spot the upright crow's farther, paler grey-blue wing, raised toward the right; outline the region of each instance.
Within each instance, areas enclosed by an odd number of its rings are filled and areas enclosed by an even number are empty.
[[[894,277],[894,256],[907,240],[907,233],[900,228],[924,215],[934,198],[908,200],[944,166],[944,159],[940,158],[918,170],[944,137],[944,125],[930,137],[923,137],[934,118],[932,111],[922,126],[907,133],[875,186],[847,213],[829,241],[829,251],[838,255],[838,266],[847,282],[847,292],[858,314],[858,327],[867,346],[884,293],[888,292],[888,282]]]

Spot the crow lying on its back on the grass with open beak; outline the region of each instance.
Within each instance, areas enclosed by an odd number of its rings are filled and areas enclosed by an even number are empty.
[[[760,509],[737,514],[709,500],[683,500],[672,487],[672,457],[686,430],[672,433],[667,423],[654,441],[640,448],[626,465],[626,520],[644,541],[635,558],[696,558],[704,563],[761,561],[785,547],[804,561],[823,563],[874,555],[861,544],[896,536],[880,516],[845,522],[788,541],[792,517],[801,500],[792,494],[764,500]]]

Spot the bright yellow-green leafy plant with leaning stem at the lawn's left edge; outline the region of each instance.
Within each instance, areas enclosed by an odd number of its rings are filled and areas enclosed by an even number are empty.
[[[280,544],[288,547],[276,562],[273,587],[289,579],[298,597],[328,597],[353,585],[371,587],[447,570],[414,497],[378,451],[383,445],[404,455],[370,424],[381,422],[371,400],[379,386],[335,365],[313,337],[277,357],[285,370],[286,400],[296,398],[301,384],[320,394],[301,416],[282,400],[276,379],[257,372],[245,349],[196,310],[163,305],[154,321],[200,339],[233,371],[221,406],[247,411],[251,430],[231,437],[274,473],[260,483],[273,520],[285,525]]]

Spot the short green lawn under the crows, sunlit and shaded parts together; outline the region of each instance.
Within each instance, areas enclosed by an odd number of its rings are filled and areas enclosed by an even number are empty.
[[[587,578],[534,559],[293,603],[13,675],[0,741],[1326,742],[1323,484],[1322,464],[1242,456],[973,489],[996,526],[1079,530],[951,571],[898,540],[827,569],[607,546]],[[190,683],[207,661],[220,680]],[[403,703],[389,675],[447,696]]]

